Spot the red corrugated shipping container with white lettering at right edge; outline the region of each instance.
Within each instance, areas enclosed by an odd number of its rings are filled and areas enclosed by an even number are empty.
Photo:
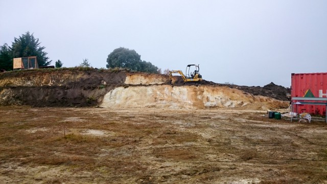
[[[327,73],[291,74],[291,97],[327,98]],[[298,105],[298,113],[302,112],[325,116],[326,106]]]

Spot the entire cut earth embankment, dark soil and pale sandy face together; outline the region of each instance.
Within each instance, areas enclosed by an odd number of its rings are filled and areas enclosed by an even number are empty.
[[[275,97],[273,90],[258,86],[222,86],[208,81],[183,84],[179,76],[174,76],[170,84],[168,75],[126,70],[61,68],[0,74],[0,105],[254,110],[287,107],[287,101],[261,96],[267,94]]]

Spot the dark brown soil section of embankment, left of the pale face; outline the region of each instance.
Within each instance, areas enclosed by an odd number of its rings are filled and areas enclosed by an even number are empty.
[[[74,76],[80,77],[76,80]],[[35,85],[19,86],[9,83],[0,87],[0,104],[2,105],[82,107],[98,105],[108,91],[123,85],[126,71],[95,68],[87,68],[87,71],[80,71],[79,68],[41,69],[8,72],[0,76],[0,80],[6,80],[6,78],[33,81]],[[49,82],[40,83],[47,78],[52,79],[51,85],[47,84]]]

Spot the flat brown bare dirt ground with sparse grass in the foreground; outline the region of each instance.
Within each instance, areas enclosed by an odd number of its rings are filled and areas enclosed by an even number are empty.
[[[327,183],[326,123],[263,114],[0,107],[0,183]]]

